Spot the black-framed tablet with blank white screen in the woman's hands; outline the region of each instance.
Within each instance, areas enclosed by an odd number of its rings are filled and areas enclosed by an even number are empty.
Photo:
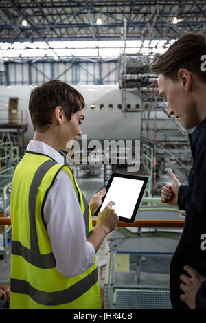
[[[106,195],[102,205],[95,212],[97,215],[110,202],[119,216],[119,221],[133,223],[139,209],[141,199],[148,183],[148,177],[113,173],[106,186]]]

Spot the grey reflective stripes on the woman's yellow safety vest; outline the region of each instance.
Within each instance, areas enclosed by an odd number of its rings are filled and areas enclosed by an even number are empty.
[[[30,186],[29,193],[29,219],[30,219],[30,247],[31,249],[23,246],[20,241],[12,240],[12,254],[22,256],[28,263],[32,265],[43,268],[52,269],[56,267],[56,260],[53,253],[50,254],[40,254],[38,246],[38,236],[36,230],[36,197],[38,194],[38,188],[41,185],[43,177],[47,171],[56,164],[56,161],[47,160],[36,170],[34,177],[32,179],[32,184]],[[63,167],[63,166],[62,166]],[[61,167],[61,168],[62,168]],[[60,169],[61,169],[60,168]],[[77,189],[78,190],[78,189]],[[79,196],[80,197],[80,196]],[[86,236],[89,232],[89,205],[82,194],[82,199],[84,201],[84,221],[86,227]],[[80,202],[80,201],[79,201]],[[88,234],[89,232],[89,234]],[[11,278],[11,291],[14,293],[27,294],[35,302],[43,305],[60,305],[73,302],[83,293],[86,293],[91,287],[98,281],[98,269],[95,268],[86,277],[82,278],[78,282],[74,283],[67,289],[55,292],[45,292],[38,290],[29,282],[25,280],[20,280],[16,278]]]

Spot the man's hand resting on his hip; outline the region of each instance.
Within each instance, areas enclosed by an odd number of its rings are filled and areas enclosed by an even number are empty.
[[[185,274],[180,276],[182,283],[179,287],[184,292],[184,294],[181,294],[180,298],[190,309],[195,309],[196,293],[201,287],[202,282],[206,281],[206,277],[202,276],[198,271],[188,265],[184,266],[183,269],[187,271],[190,277]]]

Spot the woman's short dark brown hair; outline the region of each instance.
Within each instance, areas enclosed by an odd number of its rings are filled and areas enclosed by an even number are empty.
[[[60,80],[43,83],[33,89],[30,95],[29,110],[34,130],[40,128],[44,131],[49,128],[49,124],[52,124],[52,114],[58,105],[70,121],[71,115],[83,109],[84,104],[82,94],[71,85]]]

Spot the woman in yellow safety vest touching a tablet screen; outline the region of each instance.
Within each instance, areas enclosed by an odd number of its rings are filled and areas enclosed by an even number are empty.
[[[105,190],[89,205],[60,149],[81,133],[84,98],[59,80],[30,96],[34,139],[12,180],[11,309],[100,309],[95,253],[119,218]]]

